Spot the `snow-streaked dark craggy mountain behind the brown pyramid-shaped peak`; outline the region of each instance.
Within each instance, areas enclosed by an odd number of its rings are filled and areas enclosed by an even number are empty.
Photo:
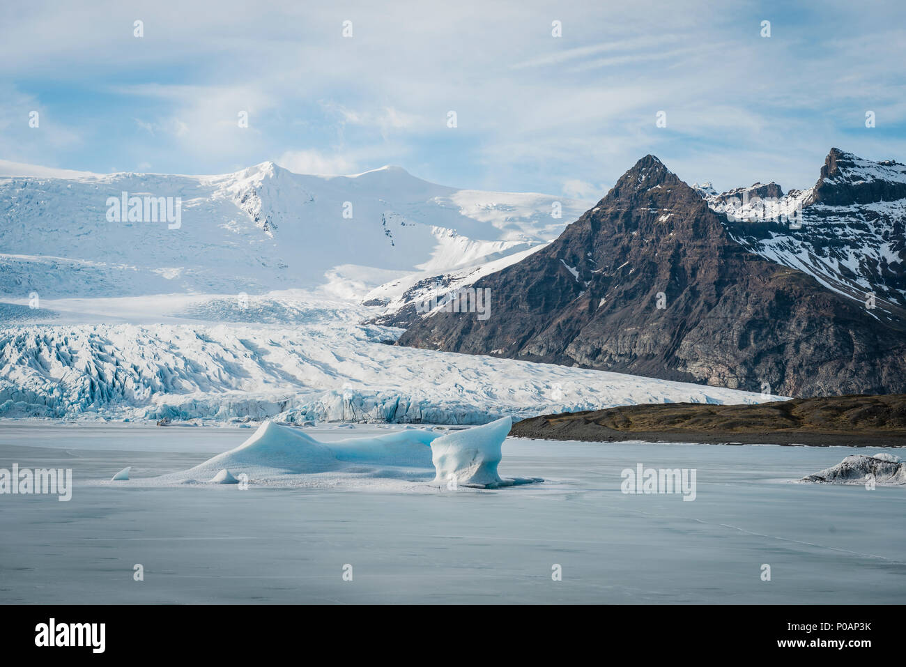
[[[696,189],[752,252],[856,301],[873,293],[879,316],[906,323],[906,165],[831,149],[809,189]]]

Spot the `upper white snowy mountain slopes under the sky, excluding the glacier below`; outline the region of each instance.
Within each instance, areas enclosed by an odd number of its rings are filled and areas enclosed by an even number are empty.
[[[92,174],[0,162],[0,295],[262,293],[496,260],[555,237],[583,202],[458,190],[384,167],[295,174]],[[121,193],[167,200],[179,221],[109,221]],[[128,200],[127,200],[128,201]],[[171,228],[172,227],[172,228]],[[348,293],[348,290],[347,290]]]

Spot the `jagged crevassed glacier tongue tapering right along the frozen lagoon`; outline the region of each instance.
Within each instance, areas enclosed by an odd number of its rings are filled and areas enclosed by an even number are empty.
[[[0,417],[480,424],[756,393],[390,345],[376,325],[97,324],[0,330]]]

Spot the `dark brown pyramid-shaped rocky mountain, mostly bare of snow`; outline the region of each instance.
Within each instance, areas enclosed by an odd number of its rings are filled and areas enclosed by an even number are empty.
[[[554,243],[475,283],[487,319],[440,309],[399,344],[790,396],[906,391],[895,321],[728,227],[646,156]]]

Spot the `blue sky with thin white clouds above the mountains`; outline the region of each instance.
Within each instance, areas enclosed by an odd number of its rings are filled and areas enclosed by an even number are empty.
[[[810,187],[832,146],[906,161],[899,0],[33,0],[0,5],[0,56],[0,160],[62,169],[596,199],[648,153],[718,190]]]

